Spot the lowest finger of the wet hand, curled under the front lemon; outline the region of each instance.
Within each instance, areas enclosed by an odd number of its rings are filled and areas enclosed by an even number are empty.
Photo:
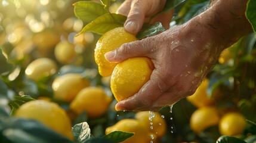
[[[143,109],[156,110],[161,108],[156,106],[156,108],[153,108],[152,105],[153,102],[155,102],[165,91],[168,90],[168,86],[166,86],[157,75],[154,76],[154,74],[156,74],[154,71],[150,77],[150,80],[143,85],[137,94],[123,101],[119,101],[118,104],[116,104],[117,111],[133,111]]]

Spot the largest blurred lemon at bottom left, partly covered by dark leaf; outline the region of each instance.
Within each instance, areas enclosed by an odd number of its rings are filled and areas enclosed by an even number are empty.
[[[72,125],[66,111],[54,102],[44,100],[26,102],[17,109],[14,116],[38,120],[48,128],[55,130],[55,132],[73,139]]]

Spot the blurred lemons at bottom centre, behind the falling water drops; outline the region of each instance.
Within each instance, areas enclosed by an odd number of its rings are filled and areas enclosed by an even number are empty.
[[[158,142],[166,133],[166,122],[159,112],[140,111],[135,114],[135,119],[122,119],[106,128],[105,133],[115,130],[134,133],[134,136],[122,143]]]

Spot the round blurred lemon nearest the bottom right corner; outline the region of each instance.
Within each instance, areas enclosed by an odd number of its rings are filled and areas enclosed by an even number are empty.
[[[240,113],[227,113],[221,117],[219,129],[221,135],[240,135],[246,126],[245,117]]]

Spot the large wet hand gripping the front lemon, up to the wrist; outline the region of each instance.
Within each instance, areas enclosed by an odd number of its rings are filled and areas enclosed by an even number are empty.
[[[192,95],[220,55],[215,38],[202,24],[187,23],[107,52],[110,62],[149,57],[155,66],[150,80],[116,110],[159,110]]]

